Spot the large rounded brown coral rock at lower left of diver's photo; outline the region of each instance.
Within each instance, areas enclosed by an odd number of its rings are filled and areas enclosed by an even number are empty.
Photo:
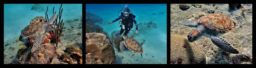
[[[115,52],[108,36],[102,33],[86,33],[85,44],[86,64],[115,64]]]

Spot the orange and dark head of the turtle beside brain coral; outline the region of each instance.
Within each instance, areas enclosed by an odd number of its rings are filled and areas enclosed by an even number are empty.
[[[188,42],[194,42],[202,37],[202,33],[198,31],[198,29],[193,30],[188,33]]]

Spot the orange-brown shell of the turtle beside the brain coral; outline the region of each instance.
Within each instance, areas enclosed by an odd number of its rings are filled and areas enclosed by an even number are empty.
[[[216,32],[229,32],[234,28],[234,21],[222,14],[209,14],[198,18],[197,24],[204,24],[208,30]]]

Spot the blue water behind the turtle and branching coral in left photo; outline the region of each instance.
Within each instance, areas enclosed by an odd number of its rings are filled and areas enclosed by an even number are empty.
[[[36,16],[45,17],[48,6],[48,17],[53,15],[53,7],[59,13],[60,4],[41,4],[44,11],[31,10],[34,4],[4,4],[4,41],[12,38],[19,38],[23,28],[29,25],[30,20]],[[82,4],[62,4],[62,19],[70,19],[82,16]],[[58,14],[56,14],[58,15]],[[49,18],[50,19],[50,18]]]

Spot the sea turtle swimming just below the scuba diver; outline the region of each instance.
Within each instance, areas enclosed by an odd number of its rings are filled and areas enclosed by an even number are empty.
[[[140,45],[140,43],[134,40],[133,37],[134,37],[133,35],[131,35],[130,37],[123,36],[124,41],[120,42],[120,50],[123,52],[124,45],[125,45],[126,48],[134,52],[132,56],[134,56],[136,53],[140,53],[142,57],[142,53],[143,53],[142,45]]]

